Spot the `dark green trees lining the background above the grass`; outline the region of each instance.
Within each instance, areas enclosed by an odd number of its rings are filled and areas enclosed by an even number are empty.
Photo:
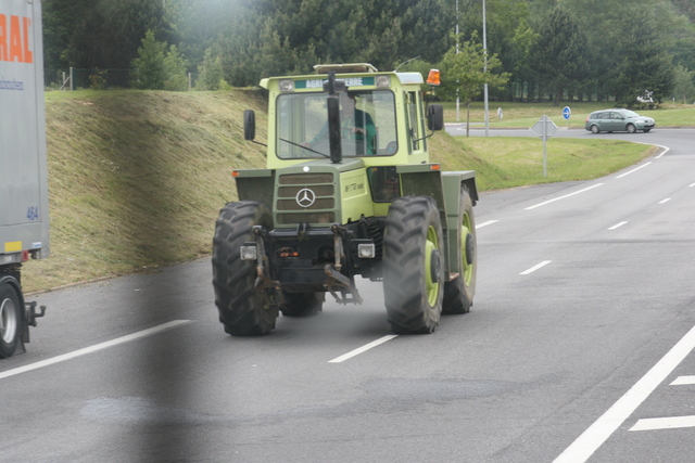
[[[483,73],[493,100],[695,101],[695,0],[485,4],[483,50],[482,0],[43,0],[45,62],[169,90],[186,73],[215,89],[366,62],[440,67],[447,99],[477,98]]]

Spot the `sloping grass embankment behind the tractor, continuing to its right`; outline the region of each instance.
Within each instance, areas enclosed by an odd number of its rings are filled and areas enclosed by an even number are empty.
[[[265,165],[245,142],[242,114],[265,103],[250,91],[47,94],[51,256],[24,268],[25,291],[147,271],[208,255],[219,208],[236,200],[230,172]],[[473,169],[481,190],[581,180],[629,166],[649,149],[620,141],[437,133],[433,160]]]

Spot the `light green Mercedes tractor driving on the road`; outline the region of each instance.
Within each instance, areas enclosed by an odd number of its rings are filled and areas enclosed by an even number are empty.
[[[421,74],[315,69],[261,81],[267,168],[233,171],[239,201],[216,222],[219,321],[235,336],[267,334],[279,312],[320,311],[326,293],[362,304],[362,275],[383,281],[394,333],[431,333],[442,312],[466,313],[473,303],[475,171],[430,163],[428,138],[444,117],[441,105],[425,104]],[[244,138],[255,138],[252,111]]]

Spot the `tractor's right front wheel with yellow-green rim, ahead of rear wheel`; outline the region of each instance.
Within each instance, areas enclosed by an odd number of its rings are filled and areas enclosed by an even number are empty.
[[[429,196],[396,198],[383,235],[383,296],[391,330],[431,333],[442,312],[442,224]]]

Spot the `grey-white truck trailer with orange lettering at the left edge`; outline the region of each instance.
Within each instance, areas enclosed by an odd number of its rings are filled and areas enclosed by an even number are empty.
[[[0,1],[0,358],[23,351],[36,303],[21,269],[49,255],[40,0]]]

